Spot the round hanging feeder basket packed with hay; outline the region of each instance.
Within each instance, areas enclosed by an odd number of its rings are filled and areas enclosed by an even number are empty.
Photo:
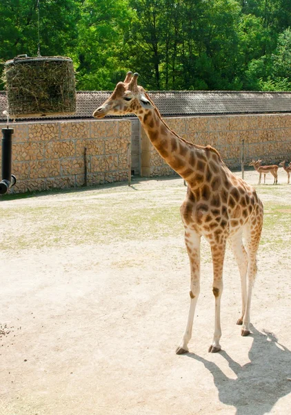
[[[72,59],[17,57],[5,64],[10,116],[57,116],[76,111]]]

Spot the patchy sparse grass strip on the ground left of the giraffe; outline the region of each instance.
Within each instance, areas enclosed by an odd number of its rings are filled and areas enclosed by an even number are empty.
[[[74,199],[66,204],[56,201],[41,206],[21,204],[13,210],[4,209],[6,237],[0,242],[0,248],[23,250],[111,243],[112,240],[157,239],[183,233],[180,202],[164,203],[161,207],[159,197],[110,196]],[[14,221],[21,221],[21,227],[15,228]]]

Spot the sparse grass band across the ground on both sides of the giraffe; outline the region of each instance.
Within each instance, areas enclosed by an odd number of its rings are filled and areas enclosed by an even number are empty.
[[[280,190],[258,186],[257,191],[265,209],[261,246],[267,250],[287,247],[291,186],[282,185]],[[185,187],[170,182],[161,190],[139,183],[134,189],[123,185],[9,199],[0,205],[0,248],[12,251],[183,237],[179,207],[184,197]]]

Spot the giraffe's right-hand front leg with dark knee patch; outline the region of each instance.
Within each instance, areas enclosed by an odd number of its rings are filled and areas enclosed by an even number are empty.
[[[210,353],[216,353],[221,350],[219,343],[221,339],[221,323],[220,323],[220,306],[221,306],[221,294],[223,291],[223,261],[225,254],[225,241],[211,246],[212,262],[213,262],[213,294],[215,297],[215,328],[213,341],[208,349]]]

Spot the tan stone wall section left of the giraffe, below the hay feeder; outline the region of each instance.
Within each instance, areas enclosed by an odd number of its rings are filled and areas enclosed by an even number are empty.
[[[23,122],[10,127],[14,192],[83,185],[85,147],[88,185],[128,180],[130,120]]]

